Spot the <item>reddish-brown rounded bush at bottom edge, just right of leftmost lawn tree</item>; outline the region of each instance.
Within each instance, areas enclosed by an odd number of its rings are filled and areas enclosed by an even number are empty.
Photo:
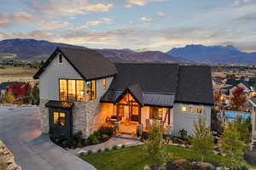
[[[170,161],[167,163],[166,170],[190,170],[191,162],[185,159],[180,159],[176,161]]]

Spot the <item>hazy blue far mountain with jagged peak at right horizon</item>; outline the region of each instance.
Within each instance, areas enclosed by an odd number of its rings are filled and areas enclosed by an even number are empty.
[[[187,45],[184,48],[172,48],[166,54],[198,63],[256,64],[256,53],[245,53],[231,45]]]

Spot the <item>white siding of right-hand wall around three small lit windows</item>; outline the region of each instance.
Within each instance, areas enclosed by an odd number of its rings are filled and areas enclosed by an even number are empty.
[[[194,108],[202,108],[203,112],[201,114],[198,113],[189,113],[183,112],[182,107],[194,107]],[[200,116],[205,118],[206,124],[208,127],[211,126],[211,106],[207,105],[186,105],[186,104],[174,104],[174,113],[173,113],[173,130],[174,135],[179,136],[179,131],[181,129],[185,129],[188,132],[188,135],[193,133],[194,122],[197,122]]]

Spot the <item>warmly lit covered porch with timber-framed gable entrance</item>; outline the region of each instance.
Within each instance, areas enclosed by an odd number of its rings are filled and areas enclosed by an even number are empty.
[[[172,106],[162,105],[165,104],[160,101],[163,97],[166,95],[143,94],[142,101],[131,90],[126,90],[123,94],[119,94],[115,102],[108,103],[109,111],[106,122],[119,127],[120,133],[136,135],[137,129],[147,132],[154,119],[157,119],[164,125],[166,134],[172,134],[173,109]],[[155,105],[157,103],[154,102],[154,98],[157,98],[161,105]],[[150,105],[147,99],[151,103],[154,102],[154,105]]]

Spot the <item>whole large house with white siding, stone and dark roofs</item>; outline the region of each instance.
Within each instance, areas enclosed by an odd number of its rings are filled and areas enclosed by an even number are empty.
[[[94,50],[56,48],[34,78],[44,133],[88,137],[113,119],[126,133],[147,131],[153,118],[170,135],[191,134],[199,116],[211,125],[208,66],[113,63]]]

